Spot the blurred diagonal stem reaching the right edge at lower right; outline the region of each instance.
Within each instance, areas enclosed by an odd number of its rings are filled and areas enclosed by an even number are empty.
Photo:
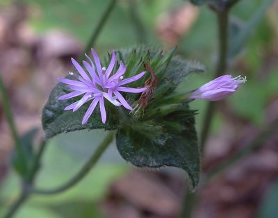
[[[211,171],[209,171],[206,174],[206,180],[208,181],[214,176],[221,174],[227,168],[231,167],[236,162],[238,162],[238,160],[241,160],[242,158],[249,155],[250,153],[253,153],[254,151],[260,149],[261,146],[263,146],[263,142],[265,142],[265,140],[267,140],[268,137],[273,135],[275,131],[277,131],[277,128],[278,128],[278,118],[275,119],[274,122],[272,122],[272,124],[268,127],[266,131],[264,131],[258,137],[256,137],[250,145],[238,151],[234,156],[232,156],[228,160],[224,160],[224,162],[220,163],[220,165],[218,165],[217,167],[211,169]]]

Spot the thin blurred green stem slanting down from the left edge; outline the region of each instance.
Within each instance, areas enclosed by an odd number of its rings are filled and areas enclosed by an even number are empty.
[[[19,136],[17,134],[17,130],[15,128],[15,122],[13,120],[13,115],[10,110],[10,102],[8,101],[8,94],[7,90],[3,84],[3,79],[0,74],[0,93],[2,96],[2,101],[3,101],[3,111],[6,116],[6,119],[8,121],[8,125],[10,127],[10,132],[12,133],[13,140],[15,140],[15,148],[17,150],[17,153],[19,155],[19,158],[22,160],[22,165],[24,165],[24,169],[26,169],[26,160],[24,156],[24,152],[22,150],[22,146],[20,144]]]

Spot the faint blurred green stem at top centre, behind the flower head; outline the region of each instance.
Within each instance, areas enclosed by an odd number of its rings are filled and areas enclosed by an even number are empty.
[[[138,15],[138,6],[136,5],[136,0],[129,0],[129,8],[131,21],[136,31],[138,37],[138,42],[143,43],[147,41],[146,31],[144,25],[142,24],[140,17]]]

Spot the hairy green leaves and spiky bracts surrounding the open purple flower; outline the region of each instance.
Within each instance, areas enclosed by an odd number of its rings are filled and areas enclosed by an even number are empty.
[[[115,107],[106,102],[105,124],[102,124],[99,112],[94,112],[88,123],[81,125],[90,103],[76,112],[65,111],[66,106],[80,97],[58,101],[58,97],[66,94],[68,89],[66,85],[59,83],[51,92],[42,112],[45,137],[49,139],[60,133],[85,128],[114,130],[117,132],[117,149],[125,160],[138,167],[180,167],[186,170],[193,187],[196,187],[199,181],[199,149],[195,111],[188,106],[188,94],[176,93],[175,90],[188,74],[203,72],[204,67],[197,62],[174,56],[174,52],[175,49],[172,49],[163,55],[161,51],[145,46],[117,51],[117,60],[122,60],[127,65],[125,78],[145,71],[144,64],[149,63],[156,74],[158,85],[145,110],[141,108],[130,113],[124,107]],[[110,57],[106,58],[104,65],[108,65],[109,59]],[[149,76],[150,73],[147,72],[143,78],[131,83],[130,87],[144,87]],[[131,106],[136,107],[140,94],[123,94]]]

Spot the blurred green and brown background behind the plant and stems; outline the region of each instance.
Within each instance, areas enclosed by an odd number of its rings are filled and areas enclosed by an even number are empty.
[[[243,26],[263,1],[242,0],[231,20]],[[0,1],[0,73],[3,76],[20,134],[42,127],[42,107],[58,77],[70,71],[90,39],[108,0]],[[190,76],[185,85],[195,89],[212,78],[217,55],[215,14],[181,0],[119,0],[99,35],[95,49],[106,51],[147,42],[165,51],[178,45],[183,58],[198,60],[205,74]],[[218,103],[202,171],[221,165],[265,131],[278,117],[278,1],[252,31],[250,39],[229,66],[234,76],[247,76],[234,96]],[[194,101],[202,126],[206,101]],[[0,216],[19,194],[19,178],[10,169],[13,139],[0,99]],[[278,131],[276,131],[278,133]],[[47,144],[38,174],[38,187],[65,183],[101,142],[104,131],[59,135]],[[38,136],[38,139],[40,136]],[[197,190],[193,217],[278,217],[278,136]],[[18,218],[44,217],[178,217],[186,174],[174,168],[136,169],[110,148],[78,185],[51,196],[32,196]]]

